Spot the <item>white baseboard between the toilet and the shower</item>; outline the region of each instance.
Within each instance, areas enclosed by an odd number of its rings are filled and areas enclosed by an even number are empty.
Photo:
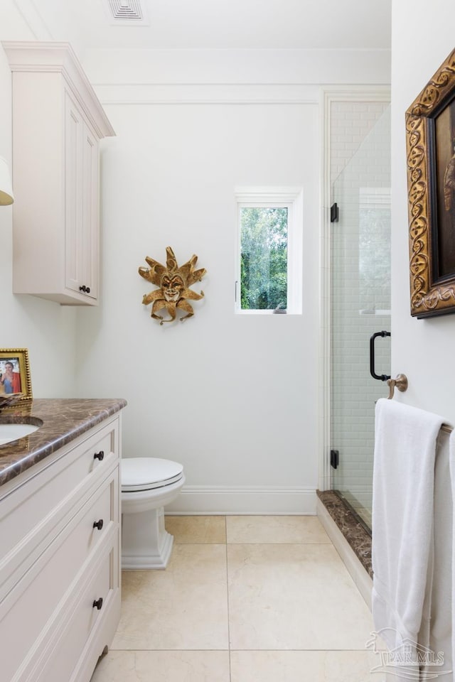
[[[166,506],[176,514],[316,514],[316,489],[296,486],[187,485]]]

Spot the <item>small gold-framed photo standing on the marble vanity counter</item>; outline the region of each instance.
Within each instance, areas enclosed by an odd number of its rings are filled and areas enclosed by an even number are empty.
[[[20,401],[32,397],[28,350],[0,348],[0,404],[13,404],[15,396]]]

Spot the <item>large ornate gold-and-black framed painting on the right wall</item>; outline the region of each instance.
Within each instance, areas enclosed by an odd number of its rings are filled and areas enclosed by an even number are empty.
[[[455,50],[406,112],[411,315],[455,313]]]

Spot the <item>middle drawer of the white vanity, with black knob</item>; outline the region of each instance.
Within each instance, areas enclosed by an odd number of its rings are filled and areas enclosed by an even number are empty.
[[[11,632],[21,633],[17,646],[2,661],[2,679],[13,678],[90,556],[103,544],[112,544],[118,534],[118,490],[117,468],[0,603],[0,642],[9,642]],[[101,529],[94,528],[101,520]]]

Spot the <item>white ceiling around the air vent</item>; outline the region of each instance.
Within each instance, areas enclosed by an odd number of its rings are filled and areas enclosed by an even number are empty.
[[[132,27],[112,26],[107,0],[15,2],[82,50],[390,49],[391,0],[141,0],[149,25]]]

